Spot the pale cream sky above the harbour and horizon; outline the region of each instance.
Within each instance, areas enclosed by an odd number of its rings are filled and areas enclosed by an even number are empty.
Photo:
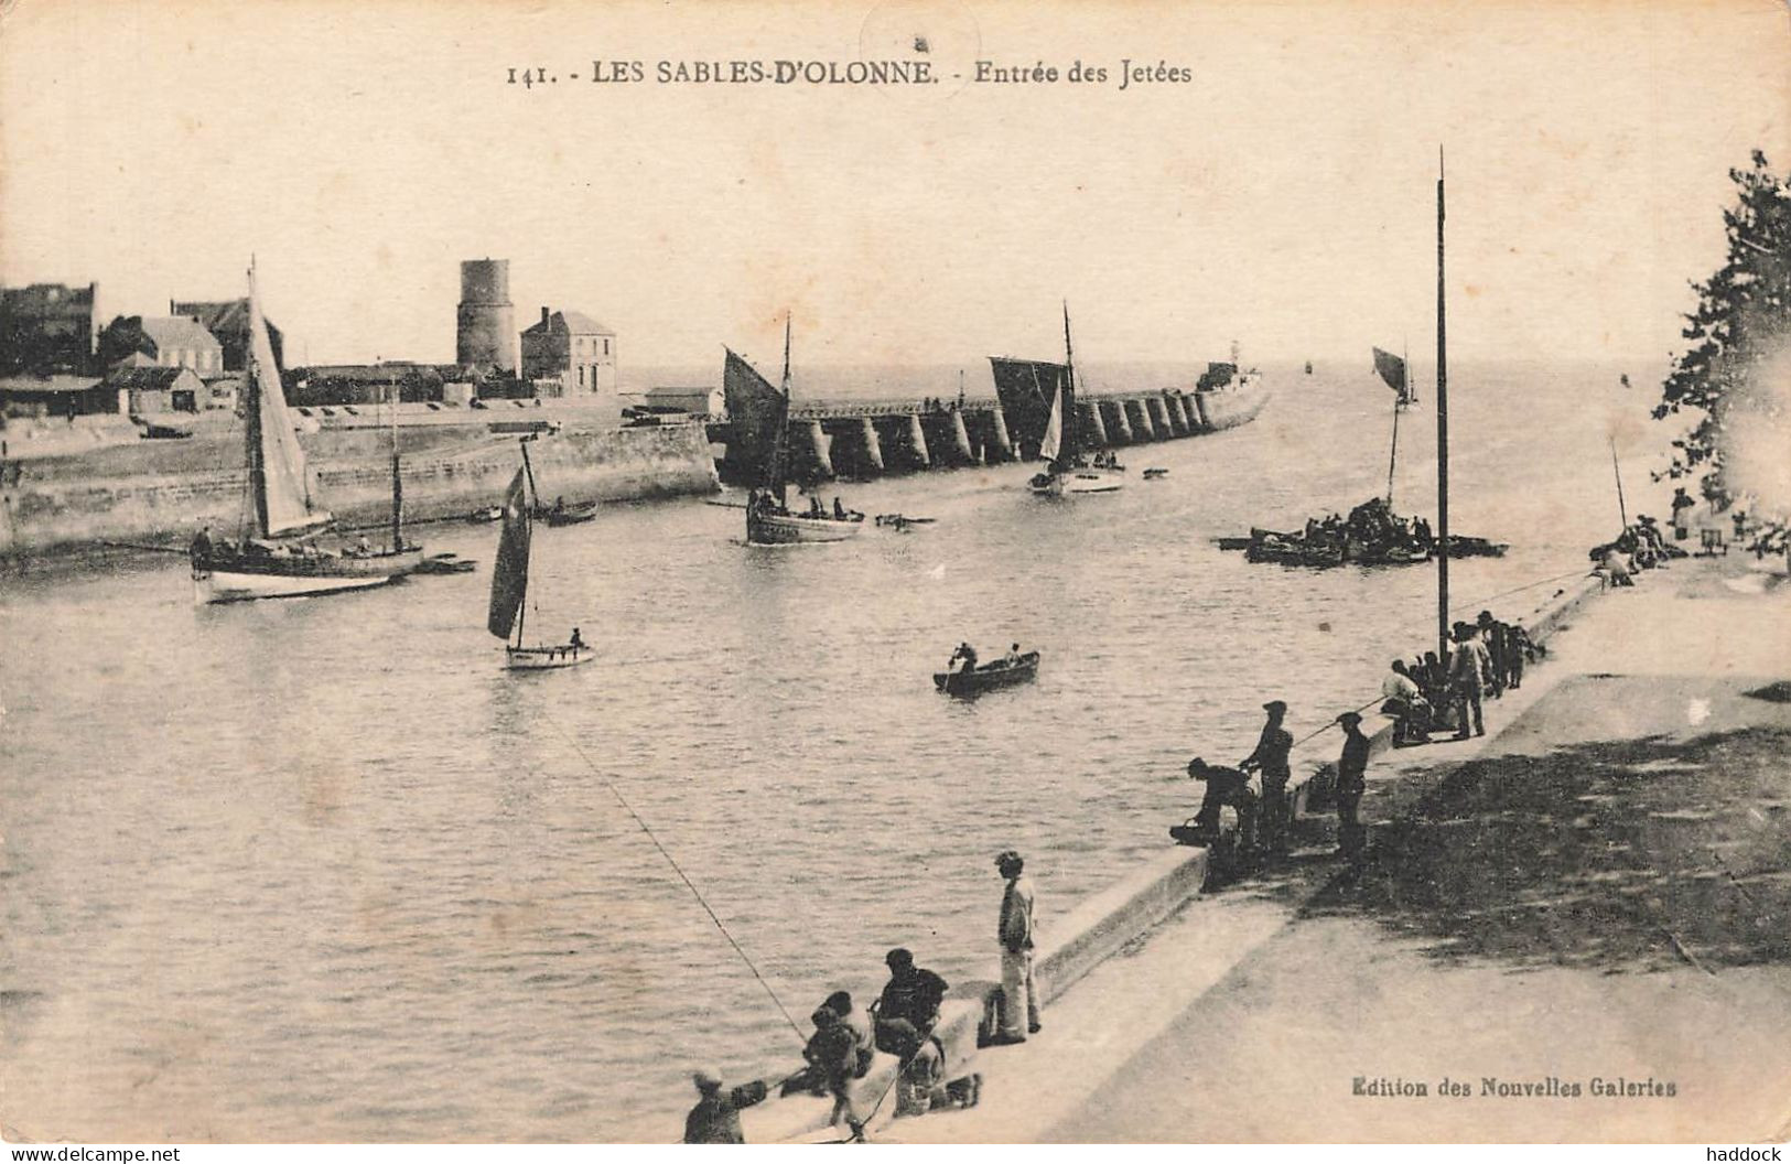
[[[518,326],[639,365],[772,358],[786,310],[799,362],[1050,356],[1066,299],[1096,362],[1427,356],[1442,145],[1453,360],[1664,364],[1728,168],[1791,165],[1787,38],[1780,0],[13,0],[0,283],[163,313],[254,254],[294,364],[451,360],[484,256]],[[861,57],[940,82],[654,81]]]

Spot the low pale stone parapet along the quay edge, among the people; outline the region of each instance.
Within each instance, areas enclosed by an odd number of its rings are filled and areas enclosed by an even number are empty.
[[[1510,611],[1499,614],[1506,621],[1522,625],[1531,641],[1544,646],[1599,589],[1598,578],[1581,578],[1553,587],[1521,618],[1512,618]],[[1363,716],[1363,732],[1370,736],[1370,752],[1384,752],[1392,747],[1393,720],[1372,711],[1365,711]],[[1338,736],[1322,732],[1293,750],[1293,779],[1288,797],[1295,817],[1329,797],[1336,781],[1338,749]],[[1161,822],[1164,827],[1166,824]],[[1153,822],[1150,827],[1159,827],[1159,824]],[[1229,872],[1227,856],[1229,847],[1221,845],[1216,851],[1178,847],[1171,845],[1164,834],[1161,854],[1152,856],[1118,883],[1080,901],[1069,913],[1046,915],[1039,928],[1041,944],[1033,956],[1033,980],[1044,1003],[1055,1001],[1096,965],[1200,895],[1209,879]],[[994,899],[987,903],[987,908],[989,913],[983,920],[992,931]],[[853,983],[853,996],[872,999],[878,989],[878,983]],[[935,1026],[935,1035],[946,1049],[946,1078],[958,1078],[974,1069],[973,1060],[981,1035],[992,1028],[996,999],[998,985],[992,981],[958,983],[947,994]],[[792,1062],[788,1069],[793,1071],[797,1066]],[[897,1071],[899,1064],[892,1055],[878,1053],[869,1074],[856,1083],[856,1116],[867,1119],[869,1132],[876,1132],[894,1119]],[[777,1078],[784,1073],[772,1071],[768,1074]],[[872,1108],[876,1108],[874,1114]],[[741,1112],[741,1121],[747,1143],[811,1141],[827,1134],[831,1110],[831,1098],[801,1094],[747,1108]],[[838,1134],[845,1132],[838,1130]]]

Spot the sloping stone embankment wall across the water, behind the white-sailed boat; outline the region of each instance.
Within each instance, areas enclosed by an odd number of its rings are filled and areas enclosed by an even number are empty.
[[[315,496],[344,525],[390,514],[390,437],[303,433]],[[518,437],[407,430],[401,482],[408,521],[494,505],[521,466]],[[79,457],[9,462],[0,480],[0,557],[36,557],[106,541],[184,544],[201,526],[233,532],[247,512],[240,435],[138,441]],[[718,489],[700,426],[543,433],[528,442],[546,503],[632,501]],[[233,466],[233,467],[220,467]]]

